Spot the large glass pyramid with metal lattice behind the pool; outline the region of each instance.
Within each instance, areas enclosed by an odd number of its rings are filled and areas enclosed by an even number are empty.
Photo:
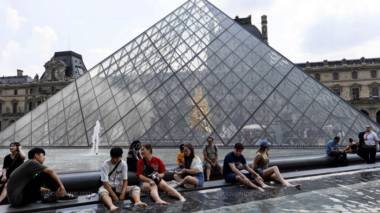
[[[0,132],[0,146],[325,145],[380,126],[206,0],[190,0]]]

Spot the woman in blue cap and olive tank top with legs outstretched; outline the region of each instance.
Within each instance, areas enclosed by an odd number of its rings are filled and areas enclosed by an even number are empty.
[[[283,186],[301,187],[301,184],[292,185],[286,180],[284,180],[277,166],[272,166],[270,168],[268,167],[268,163],[269,163],[268,151],[269,149],[271,149],[269,145],[271,144],[266,140],[260,141],[260,149],[258,149],[256,152],[255,159],[253,160],[252,169],[255,169],[257,165],[256,172],[263,179],[276,180],[280,182]]]

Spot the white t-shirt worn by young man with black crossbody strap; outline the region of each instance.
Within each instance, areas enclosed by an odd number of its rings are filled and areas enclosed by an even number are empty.
[[[123,160],[120,160],[120,164],[115,169],[114,172],[112,172],[111,176],[108,178],[109,172],[111,172],[116,165],[114,165],[111,161],[111,159],[106,160],[103,163],[103,166],[101,166],[101,181],[108,182],[108,184],[113,187],[114,185],[123,185],[123,180],[128,179],[128,166],[127,163]],[[114,182],[115,180],[115,182]]]

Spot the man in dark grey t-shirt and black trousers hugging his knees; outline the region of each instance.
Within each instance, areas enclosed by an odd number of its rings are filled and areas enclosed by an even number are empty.
[[[49,191],[59,195],[57,202],[78,200],[78,196],[66,193],[58,175],[43,165],[45,151],[35,147],[28,152],[28,161],[13,171],[6,183],[7,196],[12,206],[21,206],[41,200],[43,193]],[[42,188],[42,185],[48,189]]]

